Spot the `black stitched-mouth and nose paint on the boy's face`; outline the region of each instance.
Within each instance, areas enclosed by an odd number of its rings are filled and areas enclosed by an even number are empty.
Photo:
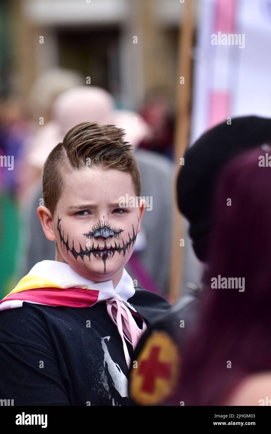
[[[124,243],[124,241],[122,239],[122,246],[121,246],[121,242],[119,243],[119,245],[117,245],[116,241],[114,241],[114,246],[112,246],[110,244],[110,247],[107,247],[106,242],[105,242],[103,250],[99,249],[99,244],[97,247],[94,247],[94,243],[92,243],[92,247],[90,247],[90,249],[88,249],[86,246],[85,246],[85,249],[83,249],[81,247],[81,244],[79,243],[80,250],[79,250],[79,252],[77,252],[74,248],[74,240],[73,240],[73,247],[72,248],[69,247],[69,235],[67,235],[67,240],[66,241],[64,240],[64,231],[63,231],[63,235],[61,234],[61,224],[60,224],[61,219],[59,217],[57,217],[57,218],[58,218],[57,230],[59,233],[61,247],[62,247],[62,243],[63,243],[64,249],[66,247],[67,252],[71,252],[72,255],[75,257],[76,261],[77,261],[78,256],[80,256],[80,258],[83,260],[83,257],[86,255],[86,256],[88,256],[88,258],[90,260],[91,254],[93,254],[95,257],[96,257],[96,255],[99,255],[101,257],[101,255],[102,255],[102,261],[104,263],[104,274],[106,273],[106,259],[108,258],[108,256],[112,255],[112,257],[113,257],[115,252],[119,252],[119,254],[121,252],[123,252],[123,256],[125,256],[126,250],[129,251],[131,244],[133,246],[135,241],[136,241],[138,227],[136,228],[136,233],[135,233],[134,226],[132,225],[132,232],[133,232],[132,238],[128,232],[129,240],[127,241],[127,243]],[[100,224],[100,221],[99,221],[99,224]],[[112,232],[110,232],[110,231],[112,231]],[[108,224],[104,224],[101,227],[95,225],[89,233],[84,234],[84,235],[88,238],[89,237],[90,238],[102,237],[103,239],[105,239],[105,234],[108,234],[107,238],[109,238],[109,237],[111,237],[111,238],[115,237],[116,238],[116,237],[119,237],[119,233],[121,233],[121,232],[123,232],[122,229],[119,229],[119,230],[112,229]],[[100,233],[100,235],[98,235],[99,233]]]

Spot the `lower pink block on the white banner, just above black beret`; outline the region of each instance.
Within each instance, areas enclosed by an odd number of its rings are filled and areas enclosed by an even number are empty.
[[[225,121],[229,116],[230,93],[213,91],[209,95],[208,129]]]

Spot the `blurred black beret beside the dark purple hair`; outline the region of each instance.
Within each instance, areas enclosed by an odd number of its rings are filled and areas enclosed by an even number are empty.
[[[232,118],[203,134],[185,151],[177,179],[178,207],[190,223],[189,235],[199,260],[205,262],[212,230],[212,202],[218,177],[229,160],[271,141],[271,119]]]

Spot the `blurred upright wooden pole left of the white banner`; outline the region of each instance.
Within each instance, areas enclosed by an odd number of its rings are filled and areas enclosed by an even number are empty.
[[[194,0],[185,0],[181,7],[185,8],[182,30],[179,32],[178,43],[178,82],[177,82],[177,106],[174,159],[176,164],[175,179],[180,169],[180,158],[188,145],[190,132],[190,108],[191,108],[191,75],[193,45],[193,6]],[[184,84],[180,84],[180,77],[184,77]],[[176,182],[175,184],[176,185]],[[176,197],[176,192],[175,192]],[[172,266],[169,299],[174,303],[182,295],[182,270],[184,263],[184,249],[180,246],[180,239],[185,239],[185,228],[177,202],[175,200],[173,210],[172,227]]]

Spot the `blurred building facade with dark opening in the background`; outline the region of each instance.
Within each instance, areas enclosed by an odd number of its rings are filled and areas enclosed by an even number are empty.
[[[90,77],[121,107],[137,107],[151,89],[174,99],[178,84],[178,31],[184,4],[177,0],[6,0],[12,75],[27,95],[37,76],[60,66]],[[43,37],[43,38],[41,38]]]

